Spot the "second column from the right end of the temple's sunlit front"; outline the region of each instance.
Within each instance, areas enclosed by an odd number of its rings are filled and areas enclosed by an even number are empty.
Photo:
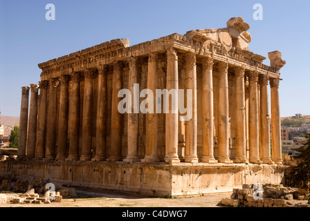
[[[260,139],[262,146],[261,160],[264,164],[273,164],[271,161],[271,141],[270,141],[270,115],[268,96],[268,76],[259,75],[260,86]]]

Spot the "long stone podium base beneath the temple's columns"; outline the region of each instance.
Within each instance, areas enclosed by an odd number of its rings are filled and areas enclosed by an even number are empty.
[[[283,182],[287,166],[268,164],[141,164],[122,162],[0,162],[0,173],[35,175],[73,187],[178,197],[233,191],[242,184]]]

